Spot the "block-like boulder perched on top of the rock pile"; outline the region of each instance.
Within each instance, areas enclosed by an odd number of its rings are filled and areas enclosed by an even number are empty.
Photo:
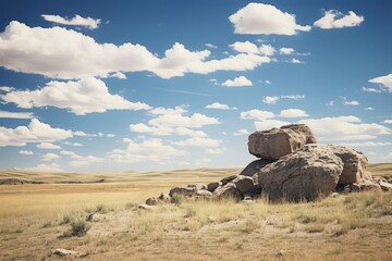
[[[250,134],[248,150],[258,158],[278,160],[309,142],[316,142],[310,128],[305,124],[291,124]]]

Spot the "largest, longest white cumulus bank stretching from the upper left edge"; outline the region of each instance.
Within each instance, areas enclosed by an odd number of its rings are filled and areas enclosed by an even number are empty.
[[[254,70],[271,61],[268,57],[253,53],[207,60],[211,54],[209,50],[189,51],[179,42],[158,58],[140,45],[99,44],[72,29],[29,27],[16,21],[0,34],[0,66],[63,79],[122,77],[123,73],[143,71],[171,78],[185,73]]]

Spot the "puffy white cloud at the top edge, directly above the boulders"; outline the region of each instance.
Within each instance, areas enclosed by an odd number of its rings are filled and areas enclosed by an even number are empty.
[[[296,24],[295,15],[282,12],[274,5],[248,3],[229,17],[234,33],[248,35],[295,35],[298,30],[309,32],[310,26]]]

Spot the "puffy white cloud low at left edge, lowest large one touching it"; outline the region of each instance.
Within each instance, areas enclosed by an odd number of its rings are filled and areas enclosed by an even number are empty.
[[[25,146],[27,142],[51,142],[71,138],[72,136],[71,130],[52,128],[49,124],[33,119],[28,126],[0,127],[0,147]]]

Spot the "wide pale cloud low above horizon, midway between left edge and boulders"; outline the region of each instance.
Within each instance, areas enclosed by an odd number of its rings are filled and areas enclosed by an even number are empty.
[[[127,144],[125,150],[117,149],[108,153],[108,159],[114,162],[157,162],[164,163],[172,157],[184,156],[184,150],[175,149],[169,145],[163,144],[161,139],[150,138],[140,141],[126,139]]]

